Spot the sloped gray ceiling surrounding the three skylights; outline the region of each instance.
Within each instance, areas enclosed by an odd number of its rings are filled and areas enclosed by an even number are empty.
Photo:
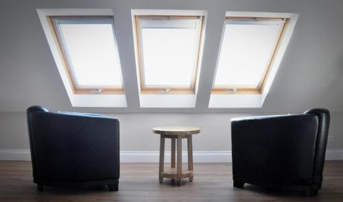
[[[128,108],[72,108],[36,8],[112,8]],[[29,105],[84,112],[343,112],[343,1],[23,0],[0,1],[0,112]],[[131,9],[207,10],[196,108],[141,109],[134,63]],[[261,109],[209,109],[209,95],[226,11],[300,14],[274,84]]]

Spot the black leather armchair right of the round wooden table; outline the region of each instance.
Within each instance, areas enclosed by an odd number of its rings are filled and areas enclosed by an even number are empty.
[[[303,191],[322,186],[330,114],[314,109],[299,115],[233,118],[233,186],[245,183]]]

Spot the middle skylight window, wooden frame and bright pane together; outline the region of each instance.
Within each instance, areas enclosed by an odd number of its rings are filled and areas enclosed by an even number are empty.
[[[134,16],[142,93],[193,94],[203,16]]]

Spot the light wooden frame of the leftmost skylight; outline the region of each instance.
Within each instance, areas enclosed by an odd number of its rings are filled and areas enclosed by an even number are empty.
[[[121,77],[121,87],[80,87],[76,84],[76,78],[73,74],[73,70],[71,69],[71,65],[69,64],[69,60],[67,59],[67,51],[65,47],[62,45],[62,38],[60,34],[58,33],[58,27],[56,23],[54,23],[54,19],[64,19],[64,20],[70,20],[70,21],[106,21],[110,22],[113,27],[113,34],[114,34],[114,40],[115,40],[115,46],[117,47],[117,41],[115,38],[115,25],[114,25],[114,19],[113,16],[47,16],[47,23],[49,24],[49,28],[51,30],[51,34],[54,38],[54,42],[56,44],[56,47],[58,49],[58,53],[60,55],[60,58],[62,60],[62,64],[64,66],[64,71],[67,74],[67,78],[69,80],[69,84],[71,85],[71,89],[73,90],[73,94],[125,94],[125,91],[123,90],[123,79],[122,75]],[[119,55],[117,55],[119,60]],[[120,68],[120,67],[119,67]],[[121,72],[121,69],[119,70]]]

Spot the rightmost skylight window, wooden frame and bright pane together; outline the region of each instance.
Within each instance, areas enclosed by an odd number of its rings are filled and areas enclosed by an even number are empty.
[[[227,17],[212,92],[260,94],[285,21]]]

